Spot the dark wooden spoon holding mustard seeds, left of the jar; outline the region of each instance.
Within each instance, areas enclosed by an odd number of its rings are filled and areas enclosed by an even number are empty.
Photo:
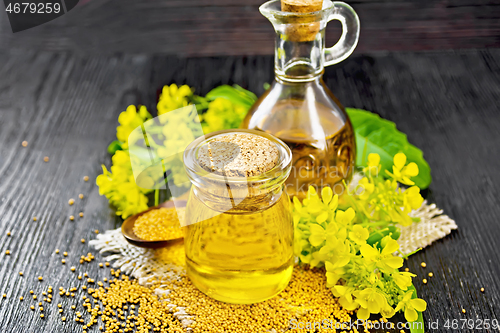
[[[134,233],[134,224],[139,216],[141,216],[141,215],[143,215],[143,214],[145,214],[153,209],[173,208],[175,206],[186,207],[185,200],[176,200],[175,203],[176,203],[176,205],[174,205],[174,202],[172,200],[165,201],[164,203],[161,203],[158,206],[151,207],[148,210],[145,210],[143,212],[140,212],[138,214],[132,215],[129,218],[127,218],[122,224],[122,234],[125,237],[125,239],[132,245],[144,247],[144,248],[149,248],[149,249],[158,249],[161,247],[167,247],[167,246],[182,242],[184,240],[184,237],[179,237],[179,238],[174,238],[174,239],[166,239],[166,240],[148,241],[148,240],[144,240],[144,239],[139,238]]]

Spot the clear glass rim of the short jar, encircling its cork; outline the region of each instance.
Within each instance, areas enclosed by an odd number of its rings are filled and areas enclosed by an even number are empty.
[[[264,137],[276,145],[276,148],[278,149],[278,161],[273,168],[255,176],[224,176],[215,172],[208,171],[201,166],[198,160],[198,153],[202,146],[221,136],[245,133]],[[230,185],[246,184],[248,182],[264,183],[274,180],[277,177],[282,178],[283,176],[285,176],[283,177],[284,182],[290,174],[292,163],[292,151],[283,141],[269,133],[251,129],[229,129],[216,131],[201,136],[187,146],[186,150],[184,151],[183,157],[184,168],[186,169],[186,172],[191,181],[198,177],[203,177],[207,178],[207,180],[222,182]]]

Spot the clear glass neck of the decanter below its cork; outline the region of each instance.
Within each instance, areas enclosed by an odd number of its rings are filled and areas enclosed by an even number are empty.
[[[276,29],[274,71],[282,81],[306,82],[321,76],[324,69],[324,29],[307,40],[297,40]]]

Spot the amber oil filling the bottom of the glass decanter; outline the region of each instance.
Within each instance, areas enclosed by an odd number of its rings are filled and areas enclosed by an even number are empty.
[[[278,102],[255,129],[281,139],[292,150],[292,170],[286,181],[290,196],[300,199],[309,186],[330,186],[337,194],[344,190],[342,180],[352,175],[355,162],[354,132],[350,121],[319,103],[290,99]],[[304,110],[313,108],[315,112]],[[248,128],[249,117],[243,128]]]

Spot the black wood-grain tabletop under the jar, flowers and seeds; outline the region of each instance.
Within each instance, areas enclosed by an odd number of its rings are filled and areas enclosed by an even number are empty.
[[[131,103],[155,110],[158,90],[172,82],[190,84],[200,94],[223,83],[260,94],[262,84],[272,80],[272,65],[267,56],[0,51],[0,295],[7,294],[0,299],[0,331],[81,332],[72,314],[66,312],[70,320],[61,321],[56,306],[78,304],[81,289],[75,298],[61,300],[55,293],[54,302],[44,305],[44,319],[29,310],[35,304],[29,290],[40,295],[48,285],[56,291],[79,286],[76,277],[85,272],[96,281],[109,276],[98,268],[98,254],[91,264],[78,261],[89,251],[95,254],[87,244],[95,229],[119,225],[99,196],[95,177],[101,163],[109,165],[106,146],[120,111]],[[328,68],[325,80],[346,106],[395,121],[424,151],[434,179],[428,197],[457,221],[458,231],[407,263],[428,302],[425,321],[441,325],[427,331],[478,332],[442,325],[453,319],[500,319],[500,50],[355,55]],[[85,175],[90,181],[83,181]],[[73,206],[70,198],[76,200]],[[56,248],[68,252],[65,265]],[[423,285],[431,271],[434,277]]]

